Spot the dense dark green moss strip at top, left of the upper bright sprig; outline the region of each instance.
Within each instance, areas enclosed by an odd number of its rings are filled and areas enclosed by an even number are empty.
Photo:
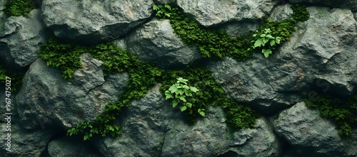
[[[229,56],[244,60],[251,57],[252,51],[247,50],[250,40],[243,36],[232,38],[226,31],[216,31],[203,28],[198,22],[171,9],[171,26],[176,36],[189,46],[197,46],[203,58],[223,58]]]

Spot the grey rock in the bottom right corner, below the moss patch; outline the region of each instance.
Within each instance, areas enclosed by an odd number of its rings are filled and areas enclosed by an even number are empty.
[[[303,156],[357,156],[357,130],[341,139],[331,121],[303,102],[281,112],[273,126]]]

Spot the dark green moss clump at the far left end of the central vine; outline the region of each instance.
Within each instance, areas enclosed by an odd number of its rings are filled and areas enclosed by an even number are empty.
[[[81,56],[86,48],[72,43],[61,43],[50,38],[43,45],[39,57],[46,61],[47,66],[56,67],[62,72],[65,80],[70,80],[74,72],[82,66]]]

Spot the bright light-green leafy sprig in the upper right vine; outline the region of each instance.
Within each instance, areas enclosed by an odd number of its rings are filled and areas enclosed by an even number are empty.
[[[261,53],[263,53],[266,58],[268,58],[269,55],[272,53],[271,49],[273,49],[276,44],[280,44],[281,41],[281,37],[271,36],[270,28],[265,28],[263,33],[258,33],[258,31],[256,31],[256,33],[253,34],[253,37],[258,37],[256,40],[251,41],[251,43],[254,43],[254,45],[252,46],[253,49],[259,48],[261,46],[264,47],[266,43],[268,43],[266,46],[268,48],[263,48],[261,50]],[[250,48],[248,50],[250,50]]]

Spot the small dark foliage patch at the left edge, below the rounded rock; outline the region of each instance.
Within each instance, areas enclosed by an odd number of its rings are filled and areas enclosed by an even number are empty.
[[[24,72],[11,72],[6,70],[5,66],[0,63],[0,85],[5,85],[6,77],[11,78],[11,92],[20,90],[22,85],[22,79],[24,78]]]

